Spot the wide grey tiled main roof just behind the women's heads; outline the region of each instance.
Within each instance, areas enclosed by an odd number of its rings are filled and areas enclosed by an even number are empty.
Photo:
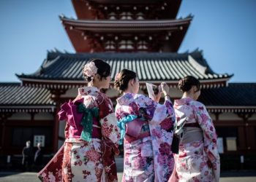
[[[48,58],[34,74],[20,74],[23,84],[44,87],[80,87],[85,84],[82,67],[91,58],[102,58],[110,64],[111,77],[123,68],[136,71],[141,83],[167,82],[176,87],[178,80],[187,75],[200,79],[203,87],[225,86],[232,75],[216,74],[208,66],[202,52],[190,53],[61,53],[49,52]],[[113,81],[112,81],[113,82]],[[72,85],[73,84],[73,85]],[[54,86],[56,87],[56,86]]]

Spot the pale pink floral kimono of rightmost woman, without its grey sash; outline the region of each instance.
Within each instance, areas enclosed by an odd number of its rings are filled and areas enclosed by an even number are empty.
[[[206,107],[191,98],[175,100],[177,122],[187,116],[187,123],[197,122],[203,130],[203,141],[182,143],[175,155],[176,170],[170,181],[219,181],[217,133]]]

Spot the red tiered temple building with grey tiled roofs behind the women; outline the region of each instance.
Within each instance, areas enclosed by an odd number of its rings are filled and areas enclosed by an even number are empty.
[[[42,142],[45,154],[64,143],[57,113],[61,103],[84,87],[82,67],[91,58],[111,66],[111,87],[103,90],[115,105],[119,93],[113,78],[122,68],[136,71],[140,92],[146,82],[167,82],[170,96],[181,98],[178,80],[200,79],[199,101],[206,105],[217,129],[222,169],[238,169],[256,159],[256,83],[229,83],[233,74],[217,74],[203,51],[178,52],[192,15],[176,18],[181,0],[72,0],[77,19],[59,18],[75,53],[48,51],[32,74],[17,74],[20,82],[0,83],[0,155],[20,154],[26,141]],[[214,60],[211,60],[214,61]],[[255,160],[256,161],[256,160]],[[256,165],[249,165],[256,167]]]

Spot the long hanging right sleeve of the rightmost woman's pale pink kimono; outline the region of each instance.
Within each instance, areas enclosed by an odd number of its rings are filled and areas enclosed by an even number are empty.
[[[200,124],[200,127],[203,130],[203,147],[206,151],[207,157],[211,162],[211,166],[214,170],[214,175],[217,181],[219,181],[219,153],[217,150],[217,133],[214,128],[214,124],[209,116],[206,106],[202,103],[199,106],[195,107],[197,122]]]

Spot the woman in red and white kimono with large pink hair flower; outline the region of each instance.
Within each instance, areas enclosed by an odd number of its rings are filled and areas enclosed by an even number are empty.
[[[95,59],[83,68],[88,87],[64,103],[59,120],[67,121],[65,142],[39,172],[42,181],[117,181],[114,154],[120,138],[111,100],[100,89],[110,84],[110,66]]]

